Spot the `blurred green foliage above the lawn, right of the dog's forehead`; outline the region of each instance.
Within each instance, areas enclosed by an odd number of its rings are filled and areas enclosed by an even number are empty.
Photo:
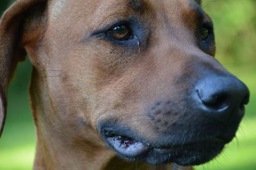
[[[256,63],[256,1],[204,0],[212,17],[217,44],[216,57],[223,63],[247,66]]]

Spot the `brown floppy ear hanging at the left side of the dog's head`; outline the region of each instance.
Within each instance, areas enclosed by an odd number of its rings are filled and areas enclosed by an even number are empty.
[[[17,0],[0,21],[0,135],[6,118],[7,88],[19,61],[47,23],[47,0]]]

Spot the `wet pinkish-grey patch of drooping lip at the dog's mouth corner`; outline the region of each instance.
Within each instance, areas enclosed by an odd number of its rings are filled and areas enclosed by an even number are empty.
[[[149,144],[143,144],[124,136],[107,137],[106,141],[120,154],[128,157],[140,156],[150,150]]]

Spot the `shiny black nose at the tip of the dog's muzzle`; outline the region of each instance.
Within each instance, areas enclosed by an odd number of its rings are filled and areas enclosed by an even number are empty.
[[[242,118],[249,102],[247,86],[231,75],[209,75],[196,86],[196,92],[199,107],[219,121],[226,121],[230,114]]]

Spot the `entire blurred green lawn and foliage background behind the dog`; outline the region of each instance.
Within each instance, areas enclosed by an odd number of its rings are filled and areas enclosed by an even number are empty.
[[[12,0],[0,1],[0,12]],[[215,160],[197,170],[256,170],[256,0],[203,0],[215,24],[216,58],[250,89],[250,104],[234,139]],[[31,170],[35,128],[29,108],[32,66],[20,63],[9,87],[8,114],[0,138],[0,170]]]

